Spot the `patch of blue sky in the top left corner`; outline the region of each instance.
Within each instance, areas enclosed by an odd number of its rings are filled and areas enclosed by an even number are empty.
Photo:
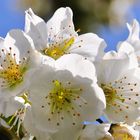
[[[15,0],[2,0],[0,4],[0,36],[11,29],[24,28],[24,12],[15,10]]]

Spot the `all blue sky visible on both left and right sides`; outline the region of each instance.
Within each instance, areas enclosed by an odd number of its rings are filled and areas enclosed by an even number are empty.
[[[24,12],[15,10],[15,0],[3,0],[0,4],[0,36],[5,37],[7,32],[11,29],[24,29]],[[131,8],[133,18],[140,21],[140,4],[136,4]],[[130,22],[129,19],[128,22]],[[117,28],[115,32],[112,32],[110,28],[104,27],[100,30],[100,37],[104,38],[108,44],[107,50],[115,49],[118,41],[125,40],[128,36],[128,30],[126,25],[124,27]]]

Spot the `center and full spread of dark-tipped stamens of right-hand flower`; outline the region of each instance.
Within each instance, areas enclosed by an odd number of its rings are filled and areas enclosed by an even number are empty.
[[[129,77],[123,76],[109,84],[101,83],[101,88],[106,97],[107,111],[119,114],[125,120],[129,120],[128,110],[139,105],[138,83],[134,79],[131,81]]]

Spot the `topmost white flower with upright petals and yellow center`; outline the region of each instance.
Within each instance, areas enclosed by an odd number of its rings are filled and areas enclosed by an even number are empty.
[[[78,36],[72,16],[70,8],[59,8],[45,23],[29,9],[26,11],[25,31],[39,52],[55,60],[69,53],[77,53],[91,60],[98,59],[104,54],[106,43],[93,33]]]

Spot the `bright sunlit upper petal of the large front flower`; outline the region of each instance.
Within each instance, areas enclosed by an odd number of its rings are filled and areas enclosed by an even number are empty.
[[[78,54],[68,54],[62,56],[56,61],[56,68],[58,70],[69,70],[74,76],[79,75],[81,77],[93,79],[93,82],[95,83],[97,82],[93,63]]]

